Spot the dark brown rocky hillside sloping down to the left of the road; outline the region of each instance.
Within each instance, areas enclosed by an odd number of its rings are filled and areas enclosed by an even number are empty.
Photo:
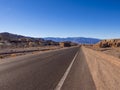
[[[11,33],[0,33],[0,48],[6,47],[35,47],[46,45],[58,45],[58,42],[44,40],[42,38],[32,38]]]

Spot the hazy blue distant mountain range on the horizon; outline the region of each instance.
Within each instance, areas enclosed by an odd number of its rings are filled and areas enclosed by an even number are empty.
[[[85,38],[85,37],[68,37],[68,38],[54,38],[54,37],[46,37],[44,40],[52,40],[56,42],[63,42],[63,41],[71,41],[79,44],[96,44],[100,39],[96,38]]]

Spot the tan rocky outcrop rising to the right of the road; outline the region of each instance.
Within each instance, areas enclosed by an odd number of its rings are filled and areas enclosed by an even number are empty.
[[[99,43],[94,45],[95,47],[120,47],[120,39],[108,39],[108,40],[102,40]]]

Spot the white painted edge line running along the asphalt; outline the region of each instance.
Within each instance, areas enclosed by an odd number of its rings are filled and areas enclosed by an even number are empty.
[[[62,85],[63,85],[65,79],[67,78],[68,73],[70,72],[70,69],[71,69],[77,55],[78,55],[78,52],[75,54],[75,57],[73,58],[72,62],[70,63],[69,67],[67,68],[66,72],[64,73],[63,77],[61,78],[61,80],[59,81],[58,85],[56,86],[56,88],[54,90],[61,90]]]

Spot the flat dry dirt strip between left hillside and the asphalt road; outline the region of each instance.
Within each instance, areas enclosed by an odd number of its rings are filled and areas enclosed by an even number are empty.
[[[6,48],[0,49],[0,59],[8,57],[16,57],[20,55],[26,55],[29,53],[37,53],[41,51],[55,50],[59,49],[59,46],[44,46],[44,47],[30,47],[30,48]]]

